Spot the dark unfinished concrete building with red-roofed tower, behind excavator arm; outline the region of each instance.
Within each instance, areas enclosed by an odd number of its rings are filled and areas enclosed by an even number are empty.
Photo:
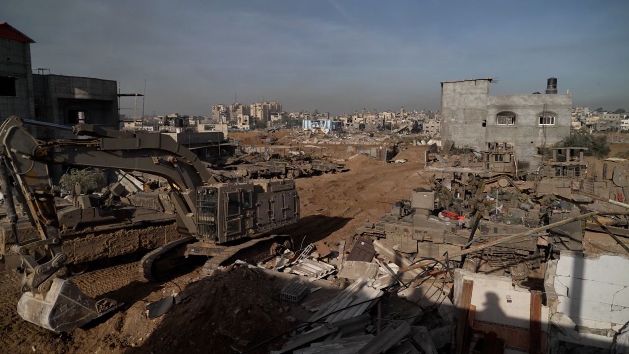
[[[31,38],[0,23],[0,119],[11,115],[62,125],[88,123],[120,128],[116,81],[33,74]],[[50,71],[48,71],[50,72]],[[29,127],[40,139],[74,137],[62,130]]]

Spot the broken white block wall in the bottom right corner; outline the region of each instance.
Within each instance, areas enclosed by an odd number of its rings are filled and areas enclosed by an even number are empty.
[[[629,322],[628,267],[626,256],[569,251],[548,263],[544,283],[559,341],[610,348]]]

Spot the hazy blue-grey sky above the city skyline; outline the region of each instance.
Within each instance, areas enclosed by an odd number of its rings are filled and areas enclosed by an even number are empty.
[[[331,113],[438,110],[440,81],[498,77],[494,94],[545,89],[629,110],[629,1],[3,0],[33,67],[147,79],[146,113],[210,115],[278,101]]]

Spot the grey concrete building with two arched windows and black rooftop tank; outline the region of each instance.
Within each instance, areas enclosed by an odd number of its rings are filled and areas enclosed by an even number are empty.
[[[489,94],[491,81],[441,83],[442,139],[481,151],[507,143],[520,169],[537,168],[541,149],[570,134],[572,95],[557,94],[554,78],[548,79],[546,94]]]

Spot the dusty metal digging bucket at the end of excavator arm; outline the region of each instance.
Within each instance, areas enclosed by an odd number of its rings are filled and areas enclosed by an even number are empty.
[[[113,311],[118,302],[94,300],[69,280],[53,280],[46,295],[25,292],[18,302],[18,314],[30,323],[55,332],[71,331]]]

